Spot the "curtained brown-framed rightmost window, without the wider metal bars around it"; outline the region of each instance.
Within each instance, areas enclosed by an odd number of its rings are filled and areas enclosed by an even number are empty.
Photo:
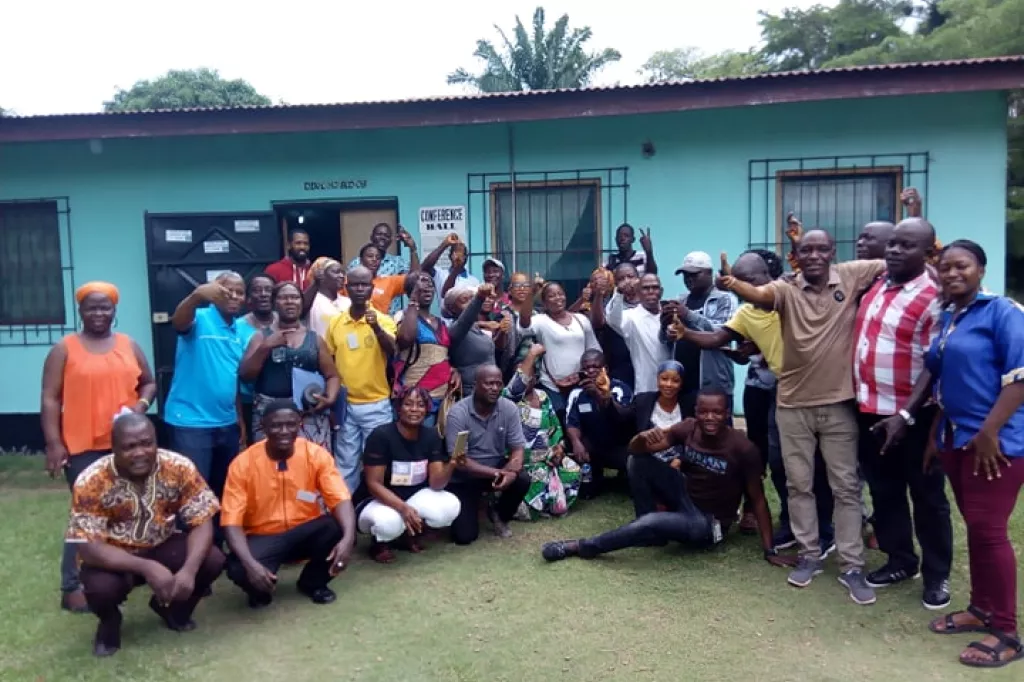
[[[780,171],[782,221],[790,213],[805,229],[819,227],[836,240],[836,259],[852,260],[857,236],[874,220],[893,222],[902,187],[902,169],[865,172]],[[784,229],[784,224],[780,225]]]

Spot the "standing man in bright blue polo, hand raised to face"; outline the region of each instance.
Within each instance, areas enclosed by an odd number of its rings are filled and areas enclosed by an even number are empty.
[[[255,334],[252,326],[236,319],[245,294],[242,276],[224,272],[197,287],[171,317],[178,333],[174,379],[164,406],[171,450],[196,464],[218,498],[242,437],[239,365]]]

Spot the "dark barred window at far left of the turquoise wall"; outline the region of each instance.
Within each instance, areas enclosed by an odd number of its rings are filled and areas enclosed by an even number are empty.
[[[0,202],[0,326],[66,324],[58,204]]]

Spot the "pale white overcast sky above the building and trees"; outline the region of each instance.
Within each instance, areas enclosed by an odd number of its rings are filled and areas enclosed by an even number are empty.
[[[541,0],[0,0],[0,106],[22,116],[96,112],[117,88],[209,67],[274,101],[317,103],[459,94],[445,78],[478,68],[476,41],[529,26]],[[548,0],[549,24],[589,26],[591,49],[621,62],[596,85],[639,82],[660,49],[746,49],[758,10],[813,0]],[[835,4],[824,0],[822,4]]]

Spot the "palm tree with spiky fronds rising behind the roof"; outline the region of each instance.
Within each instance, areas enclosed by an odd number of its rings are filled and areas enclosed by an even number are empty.
[[[496,26],[503,51],[489,40],[478,40],[473,56],[483,60],[483,71],[471,74],[459,69],[449,75],[449,85],[467,85],[479,92],[553,90],[589,85],[597,72],[618,61],[622,54],[610,48],[600,52],[584,51],[584,43],[591,39],[593,32],[590,27],[570,32],[568,24],[568,14],[562,14],[550,32],[545,31],[544,8],[538,7],[534,12],[532,39],[519,17],[515,17],[515,43]]]

